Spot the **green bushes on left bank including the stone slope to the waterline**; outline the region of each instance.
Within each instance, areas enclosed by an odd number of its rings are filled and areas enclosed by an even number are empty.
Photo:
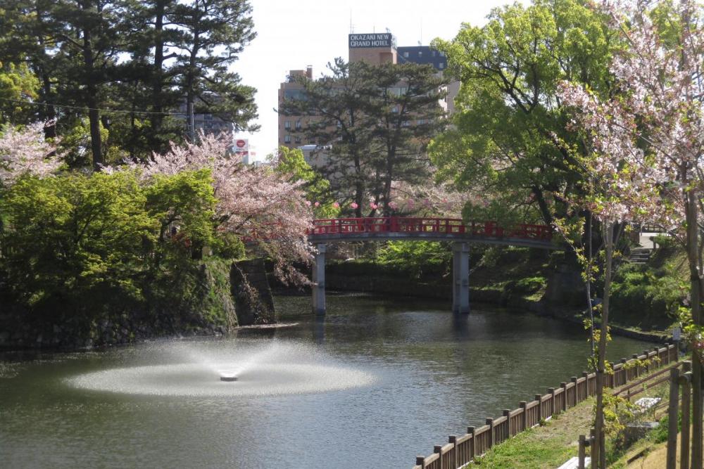
[[[237,323],[210,172],[25,177],[0,199],[0,345],[85,347]],[[239,243],[239,247],[237,244]]]

